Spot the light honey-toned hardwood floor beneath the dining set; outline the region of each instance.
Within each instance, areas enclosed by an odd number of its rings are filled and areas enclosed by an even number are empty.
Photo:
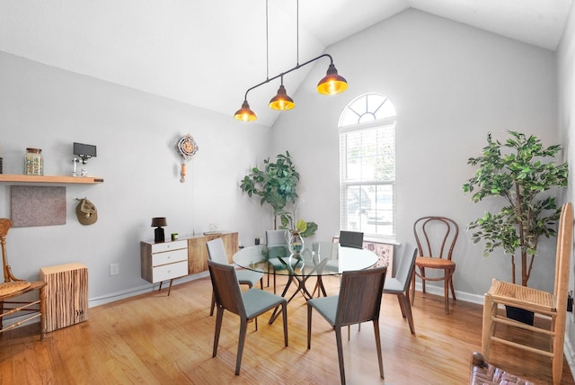
[[[279,278],[281,280],[281,278]],[[285,279],[285,278],[284,278]],[[311,280],[310,280],[311,281]],[[328,294],[339,279],[324,279]],[[279,281],[281,282],[281,281]],[[310,282],[310,287],[313,285]],[[271,288],[266,288],[271,290]],[[234,376],[238,319],[224,315],[216,358],[212,358],[215,317],[209,317],[211,283],[201,279],[90,309],[89,320],[48,334],[38,324],[0,335],[2,384],[337,384],[335,336],[317,313],[312,348],[306,347],[305,300],[288,304],[289,346],[283,345],[281,318],[253,324]],[[473,351],[481,350],[482,306],[452,302],[418,292],[413,308],[416,335],[410,334],[395,296],[384,295],[380,327],[385,380],[379,379],[373,327],[351,327],[344,340],[349,384],[464,384]],[[347,336],[347,331],[344,331]],[[530,338],[530,336],[518,336]],[[494,345],[491,363],[537,383],[551,381],[549,360]],[[564,384],[573,384],[567,363]]]

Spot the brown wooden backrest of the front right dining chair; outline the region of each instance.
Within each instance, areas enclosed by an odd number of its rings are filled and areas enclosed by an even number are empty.
[[[387,266],[343,272],[335,326],[379,318]]]

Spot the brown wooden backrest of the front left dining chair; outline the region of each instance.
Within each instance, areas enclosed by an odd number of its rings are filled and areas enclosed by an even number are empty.
[[[208,270],[217,305],[245,318],[242,291],[237,282],[234,266],[208,260]]]

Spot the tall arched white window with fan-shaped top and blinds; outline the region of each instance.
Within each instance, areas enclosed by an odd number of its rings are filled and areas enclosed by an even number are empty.
[[[363,94],[341,112],[340,228],[395,235],[395,108]]]

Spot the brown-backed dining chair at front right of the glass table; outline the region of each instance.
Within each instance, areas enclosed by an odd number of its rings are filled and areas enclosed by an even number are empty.
[[[344,272],[341,277],[339,295],[307,301],[307,348],[311,348],[312,309],[316,309],[335,329],[342,384],[345,384],[345,370],[343,367],[341,327],[367,321],[372,321],[374,324],[379,375],[382,379],[384,378],[384,363],[379,335],[379,310],[386,271],[387,266]]]

